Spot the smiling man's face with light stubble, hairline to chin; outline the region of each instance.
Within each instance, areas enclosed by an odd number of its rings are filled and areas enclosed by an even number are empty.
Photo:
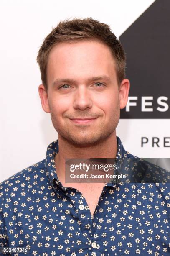
[[[98,41],[54,46],[47,82],[45,111],[51,113],[58,138],[92,146],[114,133],[120,115],[119,87],[115,61],[107,46]],[[82,120],[88,118],[93,119]]]

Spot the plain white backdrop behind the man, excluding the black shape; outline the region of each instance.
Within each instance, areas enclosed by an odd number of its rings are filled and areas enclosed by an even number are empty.
[[[119,36],[153,0],[1,0],[0,1],[0,181],[43,160],[58,138],[38,95],[41,76],[36,56],[43,39],[66,18],[92,17]],[[143,158],[169,157],[170,148],[141,148],[141,136],[170,137],[170,119],[120,120],[124,147]]]

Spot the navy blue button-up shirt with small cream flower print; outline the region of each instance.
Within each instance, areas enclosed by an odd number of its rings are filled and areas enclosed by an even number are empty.
[[[170,255],[170,183],[107,183],[91,216],[81,192],[58,180],[57,153],[53,141],[46,159],[0,183],[0,247],[34,256]],[[136,158],[117,137],[121,157]]]

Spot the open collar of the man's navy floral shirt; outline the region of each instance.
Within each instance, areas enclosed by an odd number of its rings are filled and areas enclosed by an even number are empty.
[[[55,166],[55,155],[58,153],[58,140],[53,141],[48,145],[47,152],[46,152],[46,170],[48,179],[51,183],[53,189],[55,189],[56,185],[64,191],[66,191],[65,187],[62,187],[61,182],[58,180],[56,174],[56,166]],[[124,150],[123,144],[120,138],[117,136],[117,159],[122,159],[127,157],[127,151]],[[105,186],[116,187],[115,182],[107,183]]]

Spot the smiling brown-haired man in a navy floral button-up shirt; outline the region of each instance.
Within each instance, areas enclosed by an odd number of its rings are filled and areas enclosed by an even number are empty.
[[[65,180],[66,159],[137,159],[116,136],[129,93],[116,36],[92,18],[66,20],[37,61],[41,104],[58,140],[46,159],[0,184],[0,245],[40,256],[167,255],[169,184]]]

